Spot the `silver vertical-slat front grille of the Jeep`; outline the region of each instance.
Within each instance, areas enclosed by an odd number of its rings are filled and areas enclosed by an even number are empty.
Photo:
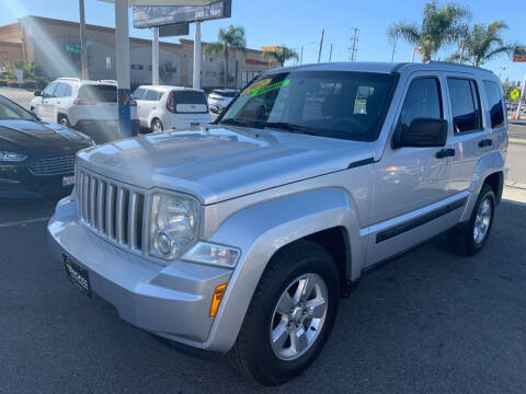
[[[81,221],[124,248],[141,252],[146,234],[145,194],[79,170],[77,196]]]

